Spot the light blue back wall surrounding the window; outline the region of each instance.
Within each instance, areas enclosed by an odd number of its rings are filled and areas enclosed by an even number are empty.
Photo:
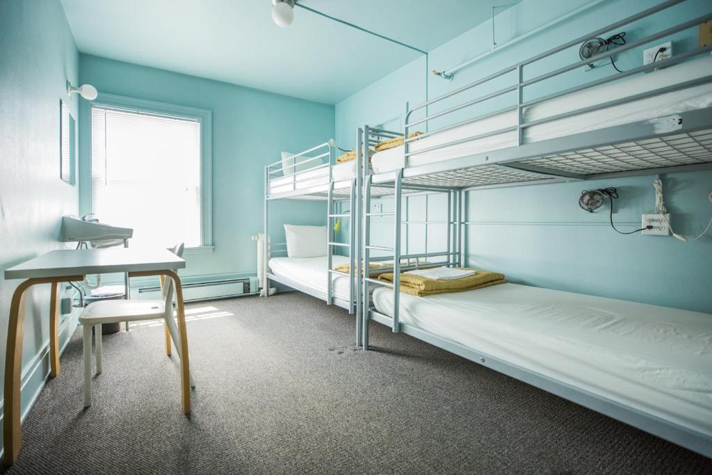
[[[244,88],[239,85],[137,66],[107,58],[80,56],[80,78],[100,93],[156,100],[212,111],[212,254],[187,256],[184,276],[256,273],[256,244],[263,227],[263,167],[280,152],[299,152],[334,136],[334,107]],[[90,132],[88,108],[80,119],[81,212],[90,209]],[[142,212],[159,212],[148,204]],[[281,224],[323,224],[325,205],[279,202],[271,206],[273,239],[283,242]],[[101,218],[101,216],[98,216]]]

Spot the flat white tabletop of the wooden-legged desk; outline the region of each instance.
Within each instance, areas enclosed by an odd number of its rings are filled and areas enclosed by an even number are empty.
[[[6,269],[5,278],[83,276],[184,267],[185,261],[167,249],[58,249]]]

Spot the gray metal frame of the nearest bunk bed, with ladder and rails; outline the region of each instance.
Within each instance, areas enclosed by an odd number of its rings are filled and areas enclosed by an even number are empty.
[[[446,266],[464,266],[466,265],[466,256],[464,254],[465,242],[465,198],[466,193],[478,189],[487,189],[491,187],[514,187],[522,185],[546,184],[556,182],[571,182],[585,181],[590,179],[602,179],[609,177],[627,177],[645,174],[659,174],[669,172],[694,172],[703,169],[712,169],[712,108],[704,107],[693,110],[685,110],[680,113],[674,113],[664,118],[656,120],[639,120],[637,122],[629,122],[615,127],[600,128],[587,132],[578,132],[572,135],[550,138],[548,140],[540,140],[538,142],[528,142],[525,140],[525,130],[534,125],[540,125],[553,120],[571,118],[577,114],[589,113],[602,108],[609,108],[615,105],[630,103],[634,100],[651,98],[656,95],[661,95],[675,90],[690,88],[696,85],[708,85],[712,83],[712,75],[704,75],[703,77],[689,80],[675,85],[645,91],[629,95],[625,98],[618,98],[598,105],[589,106],[578,110],[570,110],[564,113],[542,118],[533,121],[526,121],[524,109],[532,105],[543,103],[547,100],[558,98],[562,95],[585,91],[588,88],[593,88],[598,85],[619,80],[631,75],[645,73],[656,68],[671,66],[674,63],[681,63],[695,56],[709,54],[712,51],[712,46],[704,46],[696,48],[693,51],[679,53],[664,61],[658,61],[646,66],[640,66],[624,73],[618,73],[606,78],[593,80],[583,85],[577,85],[573,88],[567,88],[559,93],[553,93],[534,100],[523,100],[523,88],[539,83],[541,80],[555,78],[562,73],[572,71],[575,68],[585,67],[587,64],[609,58],[611,55],[627,51],[637,46],[642,46],[645,43],[658,40],[683,31],[687,28],[692,28],[703,24],[712,19],[712,14],[699,16],[691,21],[686,21],[682,24],[666,28],[663,31],[653,33],[645,38],[637,41],[632,41],[625,46],[620,46],[614,50],[600,53],[594,58],[572,63],[569,66],[563,66],[536,76],[535,78],[524,80],[523,68],[543,58],[548,58],[555,53],[563,51],[567,48],[575,46],[587,40],[602,34],[614,31],[615,29],[626,24],[637,21],[646,16],[654,14],[658,11],[667,9],[675,4],[681,3],[683,0],[666,1],[657,6],[646,9],[639,14],[629,16],[626,19],[617,21],[608,26],[598,29],[580,38],[557,46],[556,48],[538,54],[521,63],[515,64],[510,68],[506,68],[497,73],[488,75],[486,78],[477,80],[471,84],[458,88],[451,93],[442,95],[439,98],[434,98],[426,103],[418,105],[416,108],[408,110],[406,106],[406,115],[404,119],[404,137],[408,137],[409,132],[413,127],[421,125],[429,125],[431,120],[443,118],[446,115],[454,113],[472,105],[482,103],[484,100],[496,98],[508,92],[515,92],[516,103],[508,108],[497,110],[494,113],[478,115],[476,118],[468,119],[464,122],[458,122],[455,125],[441,127],[437,130],[426,132],[419,137],[406,138],[404,140],[402,164],[405,166],[399,169],[394,169],[384,173],[374,173],[365,175],[364,177],[364,207],[361,214],[363,221],[362,237],[360,242],[360,254],[364,260],[364,267],[368,268],[369,264],[375,260],[382,260],[383,257],[374,258],[371,256],[372,251],[388,252],[389,259],[392,259],[394,265],[392,272],[394,278],[392,283],[379,281],[370,276],[362,277],[362,333],[360,343],[364,350],[369,348],[369,331],[368,325],[370,320],[375,320],[378,323],[387,325],[392,328],[394,333],[407,333],[408,335],[424,340],[439,348],[450,351],[468,360],[477,362],[486,367],[490,367],[498,372],[503,372],[506,375],[515,377],[518,380],[527,382],[530,385],[539,387],[548,392],[552,392],[560,397],[565,397],[567,400],[577,402],[585,407],[594,409],[597,412],[618,419],[622,422],[630,424],[634,427],[642,429],[658,437],[667,439],[683,447],[697,451],[706,456],[712,456],[712,437],[708,434],[693,431],[688,427],[681,426],[674,422],[668,421],[653,414],[643,412],[633,407],[627,407],[620,402],[607,399],[594,392],[584,390],[575,385],[570,385],[551,377],[541,375],[538,372],[527,370],[524,367],[514,365],[506,360],[492,357],[486,353],[478,351],[476,348],[470,348],[466,345],[461,345],[443,338],[439,335],[429,333],[428,331],[418,328],[414,325],[402,323],[399,320],[399,303],[400,292],[396,289],[400,288],[399,273],[406,268],[412,268],[410,265],[402,265],[402,259],[407,258],[429,258],[438,253],[422,254],[412,256],[402,254],[401,238],[402,238],[402,189],[404,187],[419,186],[428,192],[441,192],[447,194],[447,235],[446,235],[446,252],[440,253],[445,261]],[[444,108],[439,112],[429,113],[429,108],[434,105],[443,103],[443,101],[454,98],[464,97],[463,93],[478,85],[488,83],[492,80],[498,80],[507,73],[516,75],[516,83],[506,88],[501,88],[493,93],[481,95],[477,98],[466,98],[463,102],[449,108]],[[418,111],[424,112],[424,118],[413,120],[412,115]],[[513,111],[517,115],[515,125],[506,127],[492,132],[486,132],[481,135],[474,135],[449,142],[440,143],[431,147],[420,148],[413,152],[410,146],[416,140],[422,140],[423,137],[434,136],[441,132],[454,129],[461,125],[466,125],[470,122],[475,122],[483,118],[489,118],[493,115]],[[436,162],[429,162],[424,165],[409,166],[409,158],[424,152],[438,152],[465,142],[489,137],[503,132],[515,132],[517,135],[515,146],[501,148],[499,150],[491,150],[488,152],[478,152],[464,155],[461,157],[449,158]],[[368,127],[360,130],[360,133],[368,136]],[[391,195],[394,199],[394,219],[393,227],[393,245],[392,247],[384,248],[372,246],[370,244],[370,219],[375,214],[370,213],[370,200],[372,198],[372,187],[383,187],[391,185],[394,193]],[[392,294],[392,316],[380,313],[372,306],[371,287],[385,286],[394,290]]]

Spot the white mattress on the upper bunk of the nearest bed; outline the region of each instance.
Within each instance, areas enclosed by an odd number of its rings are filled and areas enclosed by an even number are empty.
[[[600,85],[589,90],[533,105],[525,108],[524,120],[525,122],[539,120],[570,110],[586,108],[609,100],[629,97],[711,74],[712,57],[705,56],[696,61],[689,61],[659,71],[624,78],[614,83]],[[577,132],[587,132],[629,122],[650,120],[710,106],[712,106],[712,84],[699,85],[678,90],[674,93],[666,93],[653,98],[636,100],[590,113],[574,115],[566,119],[533,125],[525,129],[524,141],[538,142]],[[417,152],[427,147],[434,147],[446,142],[473,137],[514,125],[517,125],[516,111],[498,114],[491,118],[461,125],[452,130],[446,130],[424,137],[421,140],[410,142],[409,151]],[[517,132],[506,132],[478,140],[469,140],[459,145],[444,147],[441,150],[411,155],[408,166],[417,167],[432,162],[515,147],[516,145]],[[373,156],[372,166],[375,173],[389,172],[404,167],[403,146],[377,152]]]

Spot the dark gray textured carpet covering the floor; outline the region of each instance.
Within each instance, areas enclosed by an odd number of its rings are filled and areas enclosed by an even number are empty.
[[[712,460],[300,293],[188,306],[193,412],[160,325],[104,339],[83,409],[80,331],[11,474],[712,473]]]

